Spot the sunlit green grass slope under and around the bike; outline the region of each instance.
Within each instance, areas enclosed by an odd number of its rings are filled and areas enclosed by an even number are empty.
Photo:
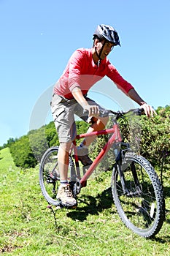
[[[9,148],[0,151],[1,255],[170,255],[169,171],[163,176],[166,221],[152,239],[136,236],[120,221],[109,189],[111,173],[88,182],[77,209],[47,208],[39,167],[15,167]]]

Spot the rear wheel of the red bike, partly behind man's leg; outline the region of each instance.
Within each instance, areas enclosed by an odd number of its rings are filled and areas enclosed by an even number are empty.
[[[69,172],[74,167],[72,157],[69,157]],[[48,148],[42,157],[39,166],[39,184],[42,195],[48,203],[53,206],[60,206],[61,201],[56,199],[60,185],[60,174],[58,171],[58,146]]]

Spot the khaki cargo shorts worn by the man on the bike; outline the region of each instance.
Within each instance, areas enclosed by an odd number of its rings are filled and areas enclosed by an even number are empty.
[[[85,97],[85,99],[89,105],[97,105],[99,109],[104,110],[92,99],[88,97]],[[74,115],[79,116],[87,123],[90,123],[93,118],[89,118],[87,113],[83,113],[83,108],[75,99],[66,99],[57,94],[53,95],[51,111],[60,143],[67,143],[76,138],[77,130]]]

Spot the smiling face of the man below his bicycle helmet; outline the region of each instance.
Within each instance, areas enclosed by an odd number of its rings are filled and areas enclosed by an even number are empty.
[[[104,45],[104,48],[103,48],[103,45]],[[112,42],[105,41],[104,39],[101,42],[97,40],[95,46],[96,46],[98,55],[101,54],[100,56],[101,59],[105,59],[108,56],[108,54],[111,52],[112,48],[114,47],[114,44]],[[103,50],[101,51],[102,48]]]

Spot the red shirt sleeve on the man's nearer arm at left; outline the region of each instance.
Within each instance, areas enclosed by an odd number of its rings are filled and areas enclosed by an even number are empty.
[[[69,60],[69,90],[80,87],[80,75],[82,69],[83,52],[81,49],[76,50]]]

